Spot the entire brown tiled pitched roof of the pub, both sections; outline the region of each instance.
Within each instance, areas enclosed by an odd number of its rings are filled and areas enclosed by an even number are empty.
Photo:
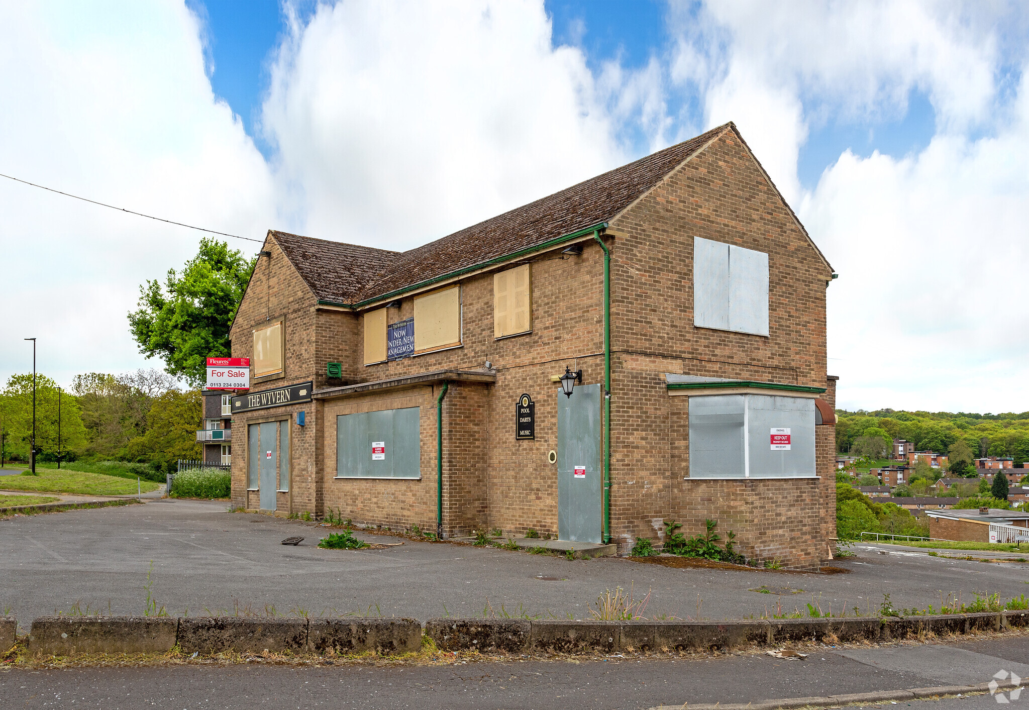
[[[269,234],[320,300],[355,304],[609,221],[731,126],[405,252]]]

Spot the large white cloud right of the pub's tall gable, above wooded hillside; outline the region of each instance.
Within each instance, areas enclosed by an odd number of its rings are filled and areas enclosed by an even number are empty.
[[[995,78],[1013,62],[1005,27],[1024,27],[1018,14],[919,2],[708,3],[673,14],[672,80],[700,93],[707,126],[736,120],[841,274],[828,323],[843,406],[1029,409],[1018,384],[1029,317],[1016,295],[1029,268],[1027,92],[1007,103]],[[803,188],[797,155],[812,128],[896,120],[912,91],[935,112],[923,151],[846,151],[814,191]]]

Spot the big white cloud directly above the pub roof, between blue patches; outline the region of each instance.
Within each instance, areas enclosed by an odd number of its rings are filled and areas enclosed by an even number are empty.
[[[294,23],[263,128],[305,234],[405,249],[626,162],[623,83],[540,2],[344,2]]]

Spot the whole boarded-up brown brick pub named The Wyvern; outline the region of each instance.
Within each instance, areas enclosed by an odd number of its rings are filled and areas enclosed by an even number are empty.
[[[269,232],[233,500],[818,567],[832,277],[732,123],[406,252]]]

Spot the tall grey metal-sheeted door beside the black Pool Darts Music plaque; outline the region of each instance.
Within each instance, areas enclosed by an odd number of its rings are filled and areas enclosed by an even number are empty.
[[[600,542],[600,385],[558,397],[558,537]]]

